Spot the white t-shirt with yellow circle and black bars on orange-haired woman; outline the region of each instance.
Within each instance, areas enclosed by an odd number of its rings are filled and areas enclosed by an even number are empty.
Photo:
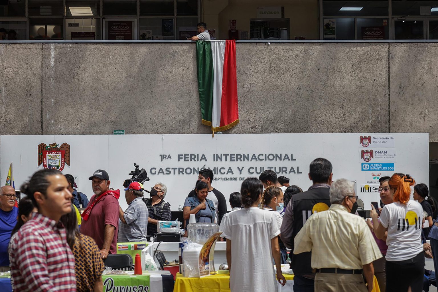
[[[410,200],[406,205],[399,202],[385,205],[379,220],[383,227],[388,228],[386,260],[409,260],[423,252],[423,208],[417,201]]]

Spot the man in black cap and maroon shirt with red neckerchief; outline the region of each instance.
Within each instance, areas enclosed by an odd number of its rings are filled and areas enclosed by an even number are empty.
[[[110,181],[105,170],[96,170],[89,179],[95,194],[81,215],[81,233],[95,240],[102,258],[106,259],[108,253],[116,253],[120,190],[109,190]]]

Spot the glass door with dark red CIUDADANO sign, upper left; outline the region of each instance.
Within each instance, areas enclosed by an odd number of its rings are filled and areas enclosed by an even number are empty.
[[[103,36],[118,41],[137,39],[137,18],[103,19]]]

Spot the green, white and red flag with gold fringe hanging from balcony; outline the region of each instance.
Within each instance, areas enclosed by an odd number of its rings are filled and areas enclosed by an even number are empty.
[[[236,41],[197,41],[198,92],[204,125],[213,134],[239,123]]]

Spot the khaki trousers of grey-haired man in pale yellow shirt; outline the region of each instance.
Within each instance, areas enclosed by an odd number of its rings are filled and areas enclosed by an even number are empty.
[[[367,292],[361,274],[317,273],[315,292]]]

